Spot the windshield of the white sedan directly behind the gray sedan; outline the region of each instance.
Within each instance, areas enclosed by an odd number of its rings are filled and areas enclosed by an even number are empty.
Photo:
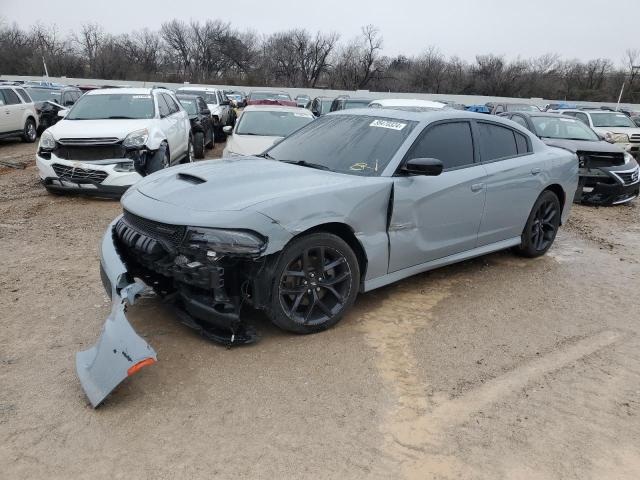
[[[313,121],[313,117],[303,113],[249,111],[240,115],[236,133],[238,135],[286,137],[311,121]]]

